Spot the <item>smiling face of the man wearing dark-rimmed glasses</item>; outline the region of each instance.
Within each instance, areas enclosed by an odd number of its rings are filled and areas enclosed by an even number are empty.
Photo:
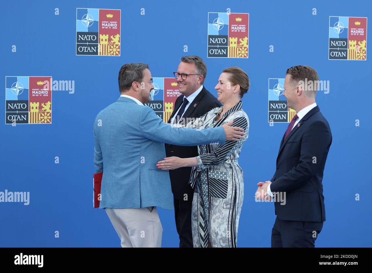
[[[189,62],[180,62],[177,68],[177,73],[197,74],[195,72],[195,64],[191,64]],[[198,90],[198,88],[201,86],[202,79],[202,75],[188,75],[186,79],[182,79],[181,75],[179,75],[177,82],[180,93],[185,95],[185,97],[188,97],[193,92]]]

